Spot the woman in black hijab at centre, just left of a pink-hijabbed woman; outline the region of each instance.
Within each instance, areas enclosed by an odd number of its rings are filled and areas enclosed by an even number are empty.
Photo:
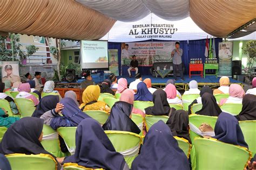
[[[157,89],[153,93],[153,107],[148,107],[145,109],[146,115],[166,115],[170,116],[171,112],[175,109],[170,108],[169,103],[167,102],[167,95],[163,89]]]

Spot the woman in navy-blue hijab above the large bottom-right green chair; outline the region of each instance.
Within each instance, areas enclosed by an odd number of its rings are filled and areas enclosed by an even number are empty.
[[[214,132],[213,138],[219,141],[248,148],[238,120],[230,114],[221,112],[215,124]]]

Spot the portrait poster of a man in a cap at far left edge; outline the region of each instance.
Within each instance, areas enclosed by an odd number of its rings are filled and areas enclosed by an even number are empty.
[[[2,61],[2,82],[6,80],[10,80],[12,83],[21,81],[19,63],[17,61]]]

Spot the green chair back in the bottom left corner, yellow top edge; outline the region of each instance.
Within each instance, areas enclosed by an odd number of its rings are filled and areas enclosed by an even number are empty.
[[[56,160],[49,154],[21,154],[14,153],[5,155],[9,160],[12,170],[55,170]]]

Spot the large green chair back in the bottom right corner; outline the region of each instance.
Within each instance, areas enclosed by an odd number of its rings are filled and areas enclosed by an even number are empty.
[[[216,139],[197,138],[191,154],[192,169],[244,169],[251,158],[245,147],[226,144]]]

